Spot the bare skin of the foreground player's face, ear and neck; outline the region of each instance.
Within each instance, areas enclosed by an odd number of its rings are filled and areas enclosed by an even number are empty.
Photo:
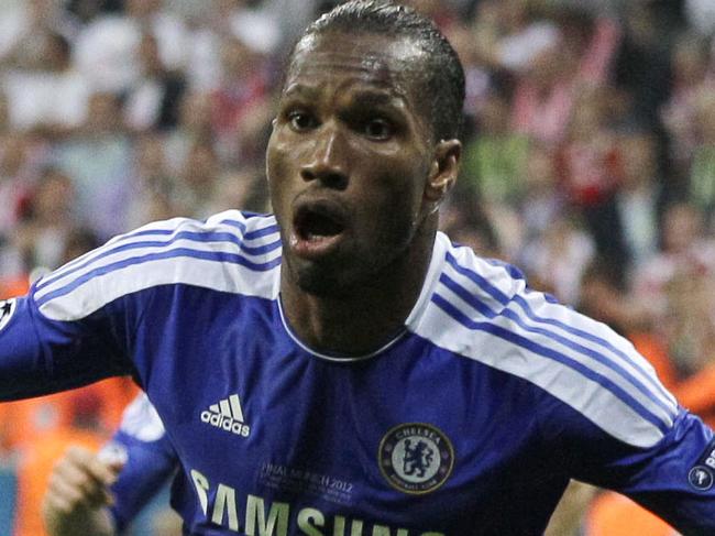
[[[283,307],[315,350],[377,350],[419,296],[461,151],[433,139],[421,54],[409,39],[329,33],[307,40],[289,68],[267,175]]]

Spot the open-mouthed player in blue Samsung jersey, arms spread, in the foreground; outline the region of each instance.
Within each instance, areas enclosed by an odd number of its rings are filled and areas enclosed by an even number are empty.
[[[0,397],[134,374],[188,534],[539,534],[570,478],[715,534],[713,431],[607,327],[437,232],[463,96],[411,10],[323,15],[268,143],[275,216],[150,225],[45,276],[0,308]]]

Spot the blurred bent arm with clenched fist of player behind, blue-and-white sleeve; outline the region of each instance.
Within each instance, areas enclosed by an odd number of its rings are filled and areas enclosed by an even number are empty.
[[[114,478],[96,478],[98,466]],[[43,503],[51,536],[113,535],[129,525],[177,467],[158,415],[142,394],[98,455],[68,451],[57,463]],[[121,470],[120,470],[121,469]]]

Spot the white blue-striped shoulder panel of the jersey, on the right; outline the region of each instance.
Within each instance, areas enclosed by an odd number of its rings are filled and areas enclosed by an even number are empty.
[[[651,446],[672,427],[674,398],[626,339],[530,289],[509,264],[455,247],[444,261],[419,335],[530,382],[627,444]]]

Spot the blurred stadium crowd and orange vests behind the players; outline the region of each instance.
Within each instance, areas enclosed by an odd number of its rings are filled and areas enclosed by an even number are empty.
[[[270,210],[285,56],[333,3],[0,0],[0,298],[150,220]],[[715,424],[715,1],[405,3],[466,69],[442,228],[629,337]],[[0,405],[0,535],[43,534],[52,461],[106,440],[134,393]],[[672,534],[614,494],[571,497],[573,534]],[[172,534],[162,504],[135,534]]]

